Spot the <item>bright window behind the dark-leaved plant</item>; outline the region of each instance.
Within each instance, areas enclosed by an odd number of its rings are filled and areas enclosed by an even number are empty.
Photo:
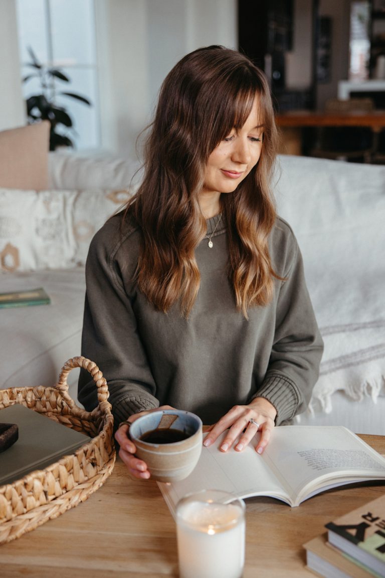
[[[59,68],[70,83],[54,79],[49,90],[55,104],[63,106],[72,118],[73,129],[69,129],[68,136],[77,150],[98,148],[100,115],[94,0],[17,0],[17,17],[21,76],[33,70],[25,65],[31,62],[28,47],[42,64]],[[39,79],[23,83],[25,98],[36,91],[41,92]],[[91,101],[92,106],[60,95],[61,91],[80,94]]]

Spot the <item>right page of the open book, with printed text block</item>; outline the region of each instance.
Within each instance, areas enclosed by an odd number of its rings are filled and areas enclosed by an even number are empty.
[[[304,490],[365,479],[385,479],[385,459],[341,426],[277,427],[264,458],[294,501]],[[309,487],[310,486],[310,487]]]

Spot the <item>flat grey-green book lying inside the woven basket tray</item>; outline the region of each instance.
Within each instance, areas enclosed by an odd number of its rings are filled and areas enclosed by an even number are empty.
[[[0,410],[0,423],[18,426],[17,442],[0,453],[0,486],[54,464],[91,439],[19,403]]]

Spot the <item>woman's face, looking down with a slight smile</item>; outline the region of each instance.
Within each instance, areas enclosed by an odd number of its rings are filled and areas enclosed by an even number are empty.
[[[206,216],[213,215],[205,212],[205,206],[217,203],[219,212],[220,194],[236,190],[257,164],[262,150],[262,136],[263,125],[260,124],[259,99],[256,97],[243,127],[234,128],[208,157],[204,186],[199,197]],[[208,213],[212,213],[212,210]]]

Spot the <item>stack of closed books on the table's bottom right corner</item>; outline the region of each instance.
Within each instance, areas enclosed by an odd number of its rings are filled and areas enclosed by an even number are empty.
[[[306,565],[326,578],[385,577],[385,492],[306,542]]]

